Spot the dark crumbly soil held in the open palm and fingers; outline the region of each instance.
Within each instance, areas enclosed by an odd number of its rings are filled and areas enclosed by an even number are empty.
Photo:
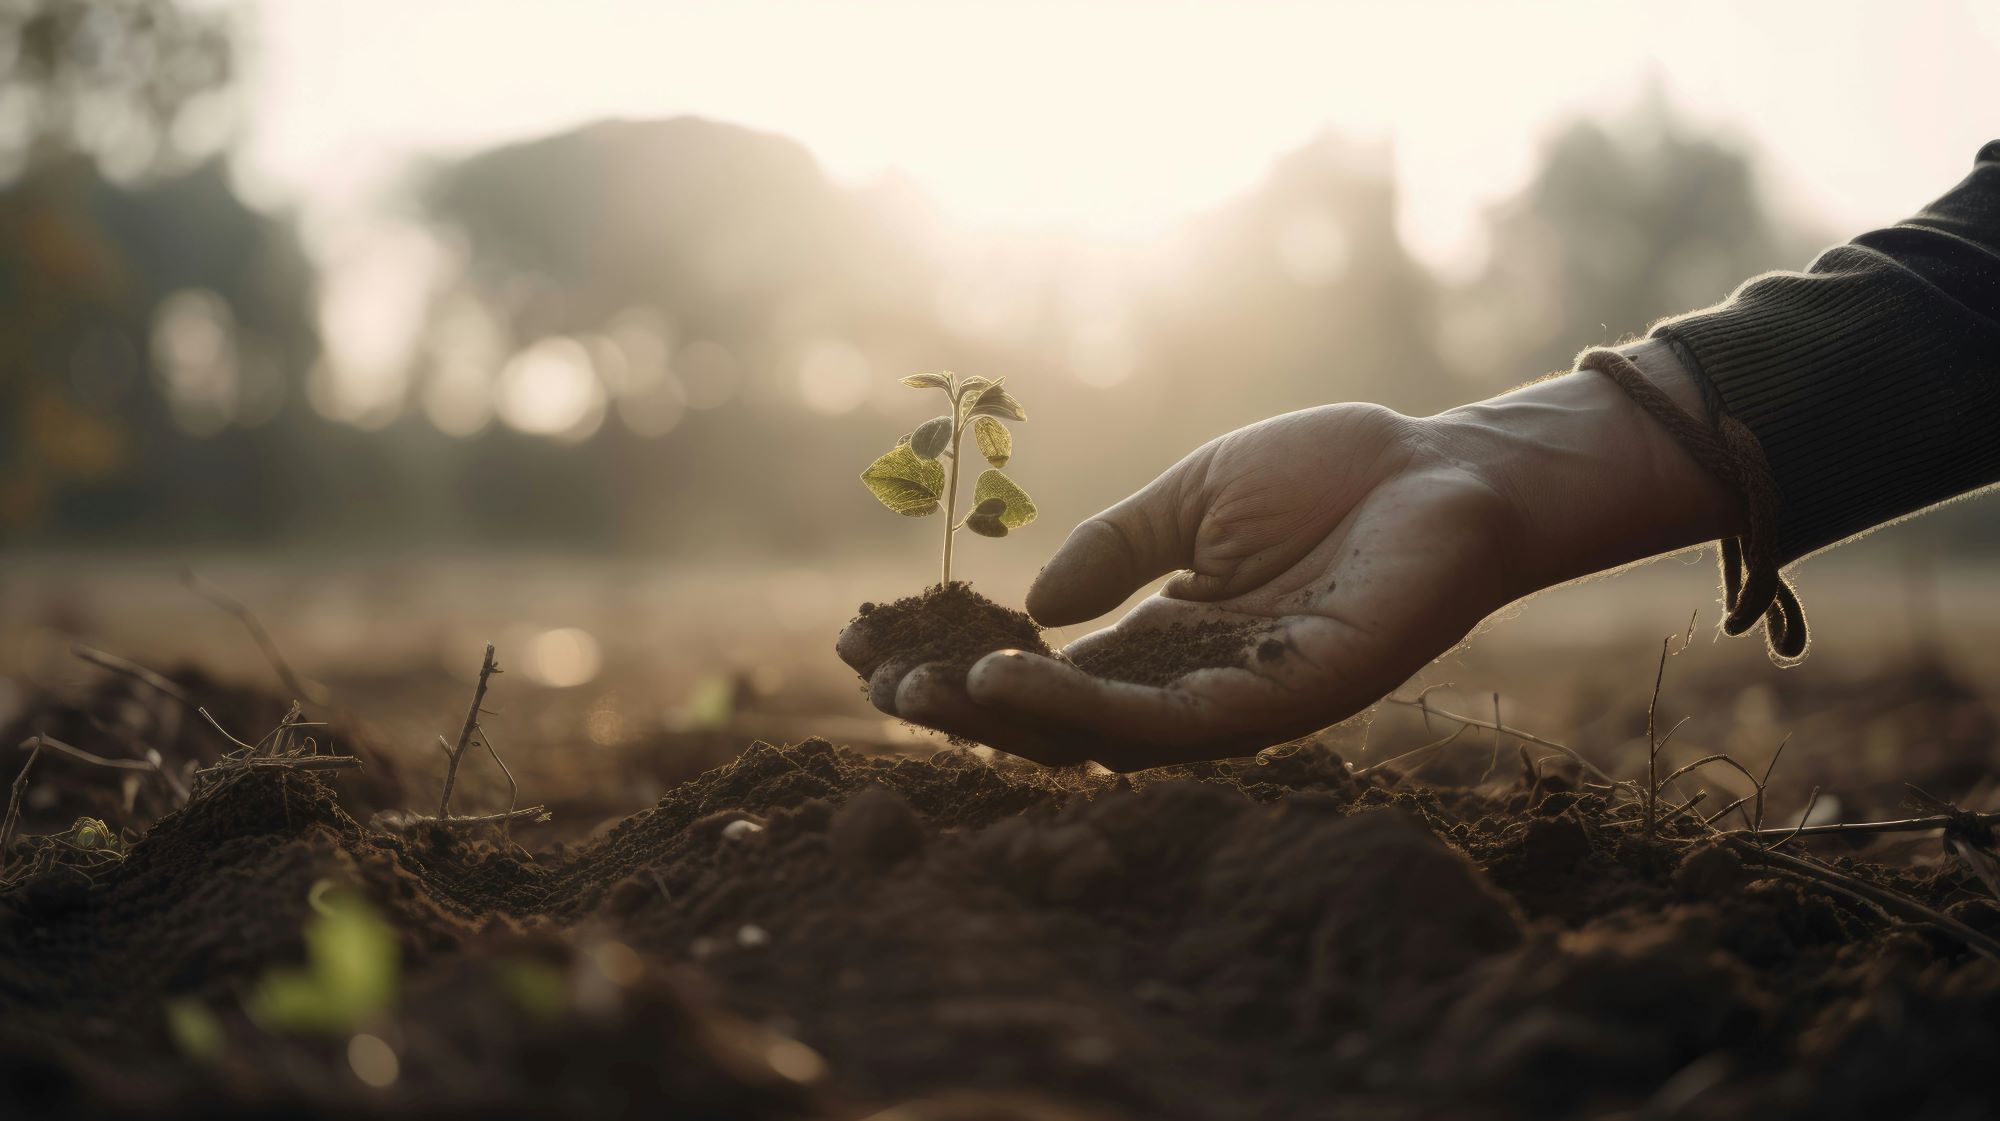
[[[936,663],[962,673],[1008,649],[1070,661],[1048,647],[1026,613],[1000,607],[958,581],[888,605],[864,603],[856,623],[864,619],[878,649],[896,663]],[[1242,665],[1252,647],[1252,657],[1266,663],[1284,657],[1284,643],[1276,639],[1258,645],[1268,629],[1250,621],[1208,621],[1118,635],[1072,665],[1106,681],[1170,685],[1200,669]]]

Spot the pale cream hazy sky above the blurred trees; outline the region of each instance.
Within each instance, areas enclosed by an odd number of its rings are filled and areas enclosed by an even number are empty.
[[[1394,138],[1404,232],[1464,260],[1568,114],[1648,82],[1770,154],[1830,228],[1904,214],[2000,136],[2000,4],[266,0],[246,184],[370,204],[412,152],[596,116],[786,132],[950,216],[1144,236],[1320,128]]]

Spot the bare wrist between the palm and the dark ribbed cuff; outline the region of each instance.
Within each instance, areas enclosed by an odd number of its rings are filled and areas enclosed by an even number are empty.
[[[1644,340],[1620,352],[1704,414],[1670,348]],[[1604,374],[1544,378],[1432,420],[1506,506],[1516,595],[1742,532],[1742,498]]]

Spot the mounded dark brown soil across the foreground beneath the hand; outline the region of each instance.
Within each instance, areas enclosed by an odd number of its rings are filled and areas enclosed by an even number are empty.
[[[0,889],[8,1115],[1990,1117],[2000,967],[1596,795],[1266,763],[1090,777],[752,745],[594,841],[356,821],[240,775]],[[1526,779],[1524,779],[1526,781]],[[1692,827],[1688,827],[1692,829]],[[530,831],[516,833],[532,843]],[[1962,871],[1888,871],[1974,927]],[[404,975],[264,1029],[320,879]],[[540,977],[540,987],[518,979]],[[538,993],[530,999],[530,993]],[[164,1007],[208,1009],[194,1059]]]

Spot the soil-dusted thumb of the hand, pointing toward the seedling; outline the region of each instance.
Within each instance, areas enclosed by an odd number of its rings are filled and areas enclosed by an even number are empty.
[[[1196,452],[1198,456],[1200,452]],[[1188,456],[1124,502],[1074,530],[1028,587],[1028,615],[1042,627],[1096,619],[1194,554],[1184,480],[1198,476]]]

